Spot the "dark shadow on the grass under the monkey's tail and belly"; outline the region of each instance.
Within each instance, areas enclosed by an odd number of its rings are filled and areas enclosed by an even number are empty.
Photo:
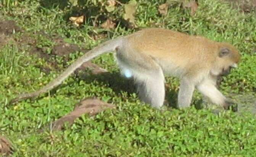
[[[119,72],[105,72],[100,74],[89,74],[87,72],[77,74],[77,77],[84,80],[86,83],[91,83],[94,80],[109,85],[113,91],[121,95],[121,91],[126,91],[128,94],[137,93],[136,85],[133,79],[124,78]],[[164,105],[177,108],[177,92],[165,86],[165,101]]]

